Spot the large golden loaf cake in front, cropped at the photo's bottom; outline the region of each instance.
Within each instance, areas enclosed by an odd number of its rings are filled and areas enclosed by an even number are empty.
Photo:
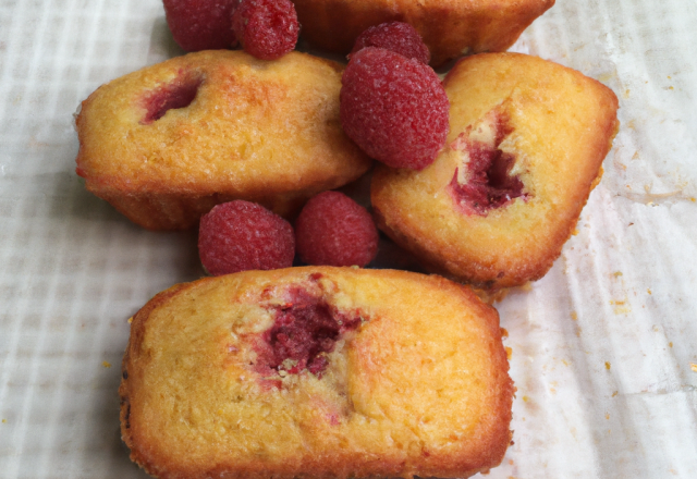
[[[510,443],[508,369],[496,310],[443,278],[245,271],[137,312],[121,432],[159,478],[468,477]]]

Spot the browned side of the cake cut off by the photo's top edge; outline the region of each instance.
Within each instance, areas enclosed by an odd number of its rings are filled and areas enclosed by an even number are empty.
[[[301,35],[325,50],[347,53],[367,27],[412,24],[441,65],[463,53],[505,51],[554,0],[294,0]]]

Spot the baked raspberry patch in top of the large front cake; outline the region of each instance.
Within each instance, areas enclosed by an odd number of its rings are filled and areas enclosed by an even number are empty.
[[[256,369],[296,374],[307,369],[321,377],[329,365],[327,354],[346,331],[360,324],[360,316],[339,311],[321,296],[295,287],[286,303],[276,306],[273,326],[262,335]]]

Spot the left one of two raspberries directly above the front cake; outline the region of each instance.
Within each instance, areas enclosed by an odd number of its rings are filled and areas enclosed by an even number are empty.
[[[198,254],[215,277],[293,266],[293,228],[260,205],[230,201],[200,219]]]

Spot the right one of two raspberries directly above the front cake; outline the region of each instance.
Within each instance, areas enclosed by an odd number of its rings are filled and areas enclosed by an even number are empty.
[[[308,265],[364,267],[378,253],[378,231],[370,213],[343,193],[311,198],[295,222],[295,244]]]

